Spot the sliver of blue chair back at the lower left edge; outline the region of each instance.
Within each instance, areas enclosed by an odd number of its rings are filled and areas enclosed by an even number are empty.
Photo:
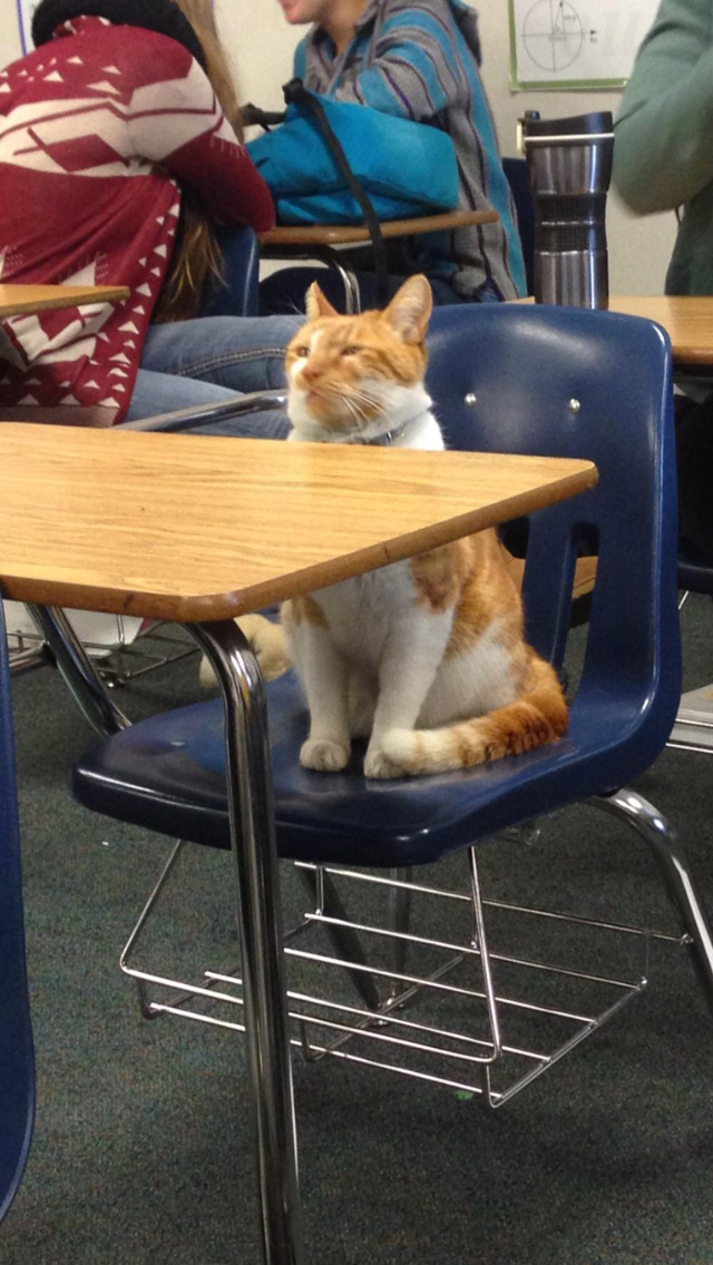
[[[34,1056],[25,973],[10,676],[0,602],[0,1221],[20,1183],[33,1122]]]

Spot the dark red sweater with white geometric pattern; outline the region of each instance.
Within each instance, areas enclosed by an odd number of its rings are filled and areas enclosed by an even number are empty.
[[[179,182],[225,223],[274,224],[267,186],[175,39],[82,16],[0,72],[0,281],[130,288],[122,304],[0,323],[0,417],[61,405],[73,423],[122,420]]]

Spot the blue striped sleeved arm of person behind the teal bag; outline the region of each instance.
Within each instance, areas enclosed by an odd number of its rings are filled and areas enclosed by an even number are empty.
[[[386,18],[369,67],[338,85],[334,96],[382,114],[431,119],[466,91],[455,63],[450,25],[434,16],[432,5],[414,3]]]

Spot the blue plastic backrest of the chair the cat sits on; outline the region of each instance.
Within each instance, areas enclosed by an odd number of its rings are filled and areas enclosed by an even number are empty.
[[[595,488],[531,516],[528,639],[561,663],[577,540],[598,536],[580,692],[617,681],[643,708],[656,700],[656,740],[669,725],[666,737],[680,689],[666,333],[614,312],[464,305],[436,309],[429,345],[427,383],[450,447],[595,462]]]

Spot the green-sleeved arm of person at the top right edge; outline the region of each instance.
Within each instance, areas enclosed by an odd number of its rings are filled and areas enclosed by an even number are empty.
[[[613,181],[640,214],[689,202],[713,180],[713,8],[664,0],[614,124]]]

